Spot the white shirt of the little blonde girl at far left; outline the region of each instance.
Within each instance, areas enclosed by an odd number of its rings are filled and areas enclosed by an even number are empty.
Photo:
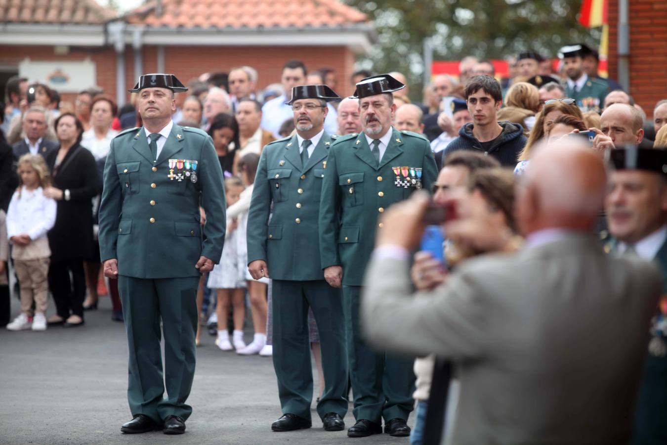
[[[46,236],[55,224],[55,200],[44,196],[42,187],[15,191],[7,209],[7,238],[27,234],[31,240]]]

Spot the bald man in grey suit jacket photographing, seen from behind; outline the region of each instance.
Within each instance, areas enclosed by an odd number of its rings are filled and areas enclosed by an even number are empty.
[[[409,249],[428,199],[390,209],[366,276],[364,332],[394,352],[452,360],[454,444],[627,444],[660,274],[604,255],[590,235],[606,187],[598,155],[561,143],[526,173],[516,198],[524,249],[469,260],[418,298]],[[471,221],[448,223],[448,236]],[[490,246],[492,232],[474,240]]]

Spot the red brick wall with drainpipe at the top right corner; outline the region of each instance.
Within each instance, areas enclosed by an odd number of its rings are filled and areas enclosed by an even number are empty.
[[[609,73],[618,77],[618,0],[609,0]],[[667,1],[630,1],[630,94],[648,117],[667,99]]]

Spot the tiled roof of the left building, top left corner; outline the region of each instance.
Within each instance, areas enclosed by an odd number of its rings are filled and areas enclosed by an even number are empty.
[[[0,0],[0,22],[94,25],[116,14],[95,0]]]

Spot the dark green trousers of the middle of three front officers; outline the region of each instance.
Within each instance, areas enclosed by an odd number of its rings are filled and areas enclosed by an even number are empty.
[[[273,280],[273,368],[283,414],[310,420],[313,368],[308,340],[308,307],[313,309],[322,350],[324,394],[317,404],[323,418],[348,412],[348,362],[340,290],[324,280]]]

